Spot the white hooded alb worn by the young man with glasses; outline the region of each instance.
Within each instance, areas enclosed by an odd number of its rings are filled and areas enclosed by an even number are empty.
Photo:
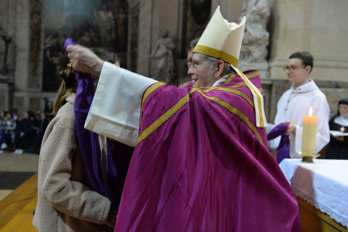
[[[315,146],[315,152],[318,153],[330,141],[330,108],[324,93],[313,80],[309,80],[308,83],[297,88],[294,88],[294,84],[292,84],[291,88],[279,99],[274,119],[275,125],[268,123],[267,132],[284,121],[291,121],[296,125],[295,134],[290,134],[291,158],[301,158],[296,152],[301,151],[303,116],[308,115],[310,106],[313,109],[313,116],[318,117]],[[279,142],[280,136],[271,140],[269,146],[276,148]]]

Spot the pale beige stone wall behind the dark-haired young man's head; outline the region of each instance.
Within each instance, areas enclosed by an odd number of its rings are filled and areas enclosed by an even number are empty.
[[[296,51],[314,56],[310,77],[346,81],[348,1],[273,0],[270,77],[286,78],[282,67]]]

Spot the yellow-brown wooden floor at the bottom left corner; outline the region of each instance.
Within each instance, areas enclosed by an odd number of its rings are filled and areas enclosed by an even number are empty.
[[[38,201],[38,174],[34,174],[0,201],[0,232],[37,232],[32,225]]]

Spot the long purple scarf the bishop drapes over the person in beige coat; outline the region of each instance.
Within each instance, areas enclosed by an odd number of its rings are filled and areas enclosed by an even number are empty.
[[[64,51],[68,45],[75,43],[71,38],[66,39]],[[65,57],[66,57],[65,52]],[[74,113],[76,134],[84,164],[85,179],[89,187],[104,195],[111,201],[111,206],[118,211],[121,199],[121,189],[118,184],[117,170],[112,157],[110,144],[107,142],[108,152],[108,187],[103,182],[101,170],[101,148],[99,135],[84,128],[85,121],[92,104],[95,87],[93,76],[76,72],[78,87],[76,91]]]

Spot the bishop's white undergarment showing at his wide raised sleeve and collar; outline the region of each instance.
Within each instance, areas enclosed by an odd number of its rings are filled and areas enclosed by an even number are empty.
[[[228,77],[223,76],[213,86],[221,85]],[[85,128],[135,147],[142,96],[145,89],[156,82],[104,62]]]

